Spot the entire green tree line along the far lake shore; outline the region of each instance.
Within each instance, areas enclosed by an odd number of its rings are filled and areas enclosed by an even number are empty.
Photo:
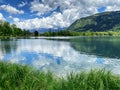
[[[15,24],[10,24],[9,22],[0,20],[0,36],[119,36],[120,31],[107,31],[107,32],[76,32],[70,30],[60,30],[52,32],[49,30],[45,33],[39,33],[35,31],[31,33],[29,30],[22,30],[18,28]]]

